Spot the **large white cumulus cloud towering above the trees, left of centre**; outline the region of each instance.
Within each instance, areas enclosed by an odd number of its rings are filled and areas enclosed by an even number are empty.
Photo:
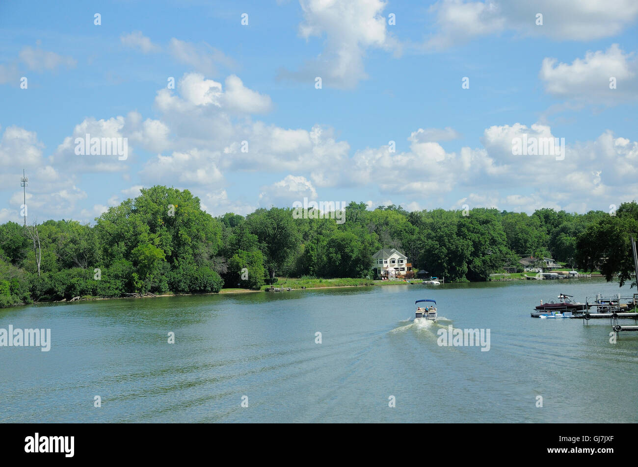
[[[246,115],[268,110],[271,99],[248,89],[234,75],[222,86],[199,73],[187,73],[179,80],[177,91],[161,89],[155,100],[161,120],[174,134],[175,153],[149,161],[146,173],[159,176],[160,171],[169,171],[166,176],[174,177],[168,161],[179,158],[189,171],[199,170],[202,176],[197,180],[202,181],[209,176],[215,179],[217,173],[208,171],[217,168],[222,172],[303,170],[311,172],[318,186],[338,182],[339,168],[345,167],[350,147],[337,141],[332,129],[320,125],[310,130],[286,129],[247,119]],[[199,149],[197,157],[193,157],[193,148]]]

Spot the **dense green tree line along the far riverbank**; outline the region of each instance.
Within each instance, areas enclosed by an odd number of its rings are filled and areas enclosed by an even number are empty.
[[[93,225],[47,220],[0,226],[0,306],[77,296],[260,289],[278,276],[374,278],[372,255],[397,248],[448,282],[489,280],[521,255],[632,277],[638,205],[615,215],[475,208],[407,212],[352,202],[345,222],[295,219],[292,208],[212,217],[189,190],[164,186],[111,207]],[[321,216],[314,216],[321,217]]]

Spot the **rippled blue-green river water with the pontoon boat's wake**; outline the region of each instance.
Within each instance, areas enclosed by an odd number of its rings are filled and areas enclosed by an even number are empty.
[[[638,333],[530,317],[561,292],[632,293],[581,279],[0,310],[0,328],[51,330],[48,352],[0,347],[0,422],[637,422]],[[438,322],[410,321],[421,298]],[[438,345],[450,325],[489,329],[489,350]]]

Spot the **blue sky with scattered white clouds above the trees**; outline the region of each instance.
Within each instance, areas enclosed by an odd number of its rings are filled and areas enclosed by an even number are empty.
[[[39,221],[154,184],[213,215],[609,210],[638,199],[637,23],[629,0],[0,3],[0,222],[22,168]],[[75,154],[85,133],[128,159]],[[513,154],[523,134],[564,157]]]

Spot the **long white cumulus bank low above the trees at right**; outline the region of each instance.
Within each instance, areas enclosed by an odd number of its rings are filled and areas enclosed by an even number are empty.
[[[514,138],[556,141],[551,127],[542,124],[489,127],[483,147],[463,147],[458,153],[431,141],[421,143],[415,133],[406,152],[390,153],[387,146],[357,151],[347,170],[352,183],[376,186],[382,196],[399,198],[411,208],[449,206],[447,199],[455,195],[454,208],[467,204],[524,212],[540,207],[582,212],[638,199],[638,142],[609,130],[593,141],[565,141],[564,159],[514,153]]]

